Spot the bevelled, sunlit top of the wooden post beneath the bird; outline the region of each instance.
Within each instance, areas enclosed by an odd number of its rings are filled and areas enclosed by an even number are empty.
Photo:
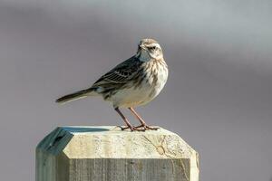
[[[193,148],[166,129],[131,131],[116,126],[63,126],[54,129],[37,150],[69,158],[189,158]]]

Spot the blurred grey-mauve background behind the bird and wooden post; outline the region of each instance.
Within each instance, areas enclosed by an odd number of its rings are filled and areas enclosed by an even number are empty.
[[[0,0],[1,179],[34,180],[57,126],[122,124],[102,99],[54,100],[152,37],[170,77],[142,117],[199,152],[200,180],[272,180],[271,18],[269,0]]]

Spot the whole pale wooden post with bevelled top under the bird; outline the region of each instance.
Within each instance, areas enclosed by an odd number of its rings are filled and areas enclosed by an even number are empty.
[[[161,128],[60,127],[36,148],[36,181],[198,180],[198,153]]]

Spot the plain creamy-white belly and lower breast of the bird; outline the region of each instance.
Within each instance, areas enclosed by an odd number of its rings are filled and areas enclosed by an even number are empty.
[[[147,75],[149,77],[149,74]],[[151,76],[152,77],[152,76]],[[153,100],[160,90],[164,87],[168,78],[168,71],[163,69],[162,66],[158,70],[158,83],[155,87],[152,87],[152,78],[147,82],[143,81],[141,88],[133,88],[119,90],[116,94],[112,95],[110,101],[114,107],[130,108],[144,105]],[[151,92],[153,91],[153,94]]]

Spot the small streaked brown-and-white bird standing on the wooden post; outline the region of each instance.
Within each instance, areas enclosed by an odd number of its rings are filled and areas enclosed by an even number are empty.
[[[101,96],[103,100],[112,103],[113,109],[124,121],[125,126],[120,126],[121,130],[157,130],[159,128],[149,126],[134,108],[157,97],[168,80],[168,74],[168,65],[164,61],[160,44],[154,39],[144,38],[138,43],[137,52],[131,58],[102,75],[91,87],[65,95],[56,102],[66,103]],[[130,110],[141,125],[132,126],[120,109]]]

